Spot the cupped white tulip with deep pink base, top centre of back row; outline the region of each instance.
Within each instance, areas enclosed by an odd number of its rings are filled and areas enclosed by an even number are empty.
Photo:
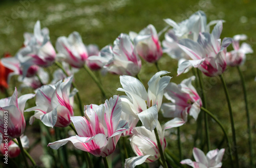
[[[162,47],[157,31],[153,25],[148,25],[134,38],[136,52],[147,62],[153,63],[162,57]]]

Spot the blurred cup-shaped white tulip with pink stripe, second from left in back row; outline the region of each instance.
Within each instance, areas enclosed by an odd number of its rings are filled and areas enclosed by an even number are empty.
[[[86,63],[88,53],[86,46],[78,32],[73,32],[69,37],[59,37],[56,42],[57,57],[71,66],[81,68]]]

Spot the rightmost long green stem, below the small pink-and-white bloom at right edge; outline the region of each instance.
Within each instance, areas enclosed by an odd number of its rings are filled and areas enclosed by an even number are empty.
[[[241,83],[244,91],[244,102],[245,102],[245,110],[246,110],[246,117],[247,117],[247,130],[249,134],[250,165],[252,168],[254,168],[255,167],[253,164],[254,153],[253,153],[253,145],[252,145],[252,137],[251,137],[250,114],[249,114],[249,108],[248,108],[248,102],[247,102],[247,92],[245,87],[244,76],[239,66],[237,66],[237,69],[240,75],[240,79],[241,79]]]

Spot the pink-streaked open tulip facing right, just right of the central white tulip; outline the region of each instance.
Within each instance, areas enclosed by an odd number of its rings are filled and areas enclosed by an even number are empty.
[[[184,79],[180,84],[170,82],[164,89],[164,97],[172,103],[163,103],[161,110],[164,117],[179,117],[187,121],[187,115],[197,119],[202,100],[191,81],[195,76]]]

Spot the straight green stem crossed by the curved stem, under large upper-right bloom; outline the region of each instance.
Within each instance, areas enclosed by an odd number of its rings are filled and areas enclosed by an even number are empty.
[[[202,102],[203,102],[203,107],[207,108],[207,103],[206,103],[206,97],[204,94],[204,86],[203,86],[203,78],[202,74],[197,68],[197,74],[198,74],[198,80],[199,84],[202,90]],[[204,123],[205,123],[205,135],[206,135],[206,143],[207,143],[207,151],[210,151],[210,134],[209,134],[209,124],[208,124],[208,117],[207,114],[204,115]]]

